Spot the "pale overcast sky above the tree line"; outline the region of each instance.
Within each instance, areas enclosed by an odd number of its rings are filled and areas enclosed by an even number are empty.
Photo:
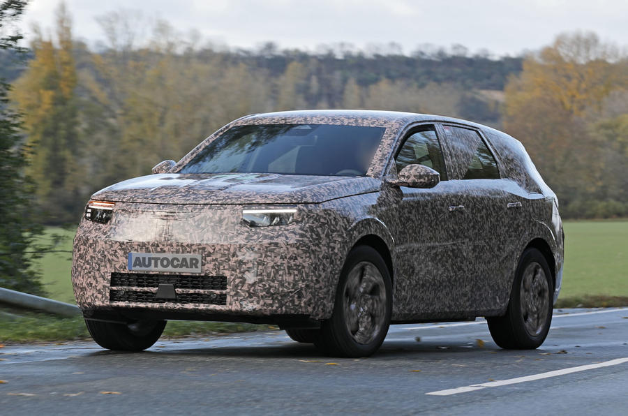
[[[31,0],[22,23],[52,27],[57,0]],[[320,44],[462,44],[472,52],[519,54],[551,43],[562,31],[595,31],[628,44],[626,0],[66,0],[74,34],[91,45],[104,36],[95,17],[133,8],[167,20],[181,32],[197,29],[214,43],[315,50]],[[28,35],[28,33],[27,33]]]

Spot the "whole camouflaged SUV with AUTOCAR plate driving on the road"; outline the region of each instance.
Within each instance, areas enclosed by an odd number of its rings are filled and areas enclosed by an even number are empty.
[[[149,348],[167,320],[216,320],[366,357],[391,324],[477,317],[498,346],[525,349],[548,334],[563,242],[555,193],[501,131],[407,112],[272,112],[94,193],[72,281],[111,350]]]

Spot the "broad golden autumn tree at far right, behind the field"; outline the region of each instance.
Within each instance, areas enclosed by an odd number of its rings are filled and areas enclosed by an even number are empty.
[[[523,62],[523,72],[505,88],[504,128],[525,144],[563,205],[608,195],[605,161],[617,138],[601,140],[614,124],[592,126],[613,91],[626,87],[625,64],[613,45],[595,34],[562,34]],[[612,136],[612,134],[611,134]],[[621,186],[612,186],[623,192]],[[578,213],[567,209],[571,215]]]

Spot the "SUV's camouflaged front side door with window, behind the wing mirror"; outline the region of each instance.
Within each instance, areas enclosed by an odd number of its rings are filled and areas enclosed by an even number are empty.
[[[389,207],[378,214],[395,240],[394,320],[438,316],[459,318],[468,309],[470,288],[463,264],[468,254],[461,209],[463,189],[449,181],[435,126],[420,126],[405,136],[392,172],[420,164],[440,173],[434,188],[384,185],[380,198]],[[459,182],[459,181],[458,181]]]

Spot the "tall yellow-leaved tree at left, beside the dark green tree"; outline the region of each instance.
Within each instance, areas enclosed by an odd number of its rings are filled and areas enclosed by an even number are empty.
[[[87,198],[78,130],[77,75],[70,17],[63,3],[57,10],[57,43],[38,34],[35,58],[15,82],[12,98],[24,113],[29,166],[43,218],[50,223],[77,221]]]

